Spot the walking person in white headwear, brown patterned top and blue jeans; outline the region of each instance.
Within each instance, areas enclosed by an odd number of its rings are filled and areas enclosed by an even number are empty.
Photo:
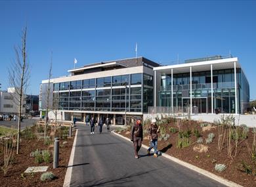
[[[151,136],[150,147],[148,148],[148,155],[150,155],[150,150],[154,148],[154,157],[158,157],[158,133],[160,127],[156,125],[156,119],[152,119],[150,125],[149,134]]]

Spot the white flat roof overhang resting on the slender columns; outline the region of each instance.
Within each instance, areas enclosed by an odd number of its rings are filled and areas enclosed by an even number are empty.
[[[211,64],[213,65],[213,70],[225,70],[234,68],[234,62],[236,62],[236,68],[241,68],[240,64],[238,63],[238,58],[224,58],[219,60],[160,66],[154,68],[153,70],[162,74],[170,74],[171,69],[173,69],[173,73],[189,73],[190,67],[192,67],[192,72],[203,72],[211,70]]]

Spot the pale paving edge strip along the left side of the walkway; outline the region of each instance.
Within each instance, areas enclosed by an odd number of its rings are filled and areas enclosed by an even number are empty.
[[[74,156],[75,156],[75,144],[76,144],[76,138],[77,138],[77,131],[78,130],[76,129],[75,138],[74,138],[74,142],[73,142],[73,146],[72,146],[72,150],[71,150],[71,154],[70,154],[70,161],[68,161],[68,168],[67,168],[67,171],[66,171],[63,187],[69,187],[70,186],[72,168],[73,168],[72,165],[74,163]]]

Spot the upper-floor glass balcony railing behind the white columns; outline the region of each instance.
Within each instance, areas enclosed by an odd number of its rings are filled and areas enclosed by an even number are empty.
[[[234,88],[234,82],[213,83],[213,89],[231,89]],[[173,85],[173,91],[189,90],[190,85]],[[211,83],[192,84],[192,90],[195,89],[211,89]],[[171,85],[161,86],[161,91],[171,91]]]

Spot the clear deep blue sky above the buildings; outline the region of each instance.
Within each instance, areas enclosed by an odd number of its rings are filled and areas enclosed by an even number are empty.
[[[0,1],[0,83],[8,87],[14,45],[28,25],[28,94],[47,79],[93,62],[145,56],[177,59],[238,56],[256,99],[256,1]]]

